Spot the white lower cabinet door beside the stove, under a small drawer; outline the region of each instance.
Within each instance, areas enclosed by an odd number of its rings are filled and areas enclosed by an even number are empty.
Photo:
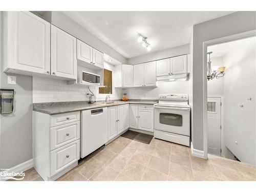
[[[139,130],[154,131],[154,110],[139,110]]]

